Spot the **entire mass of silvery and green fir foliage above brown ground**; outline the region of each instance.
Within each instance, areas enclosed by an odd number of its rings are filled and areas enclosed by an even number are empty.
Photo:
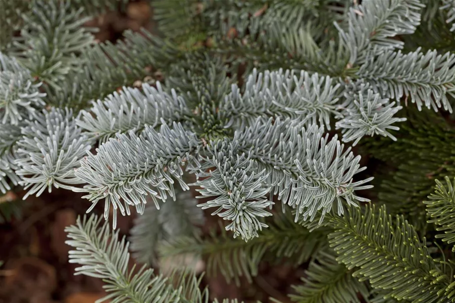
[[[454,0],[151,0],[159,34],[97,41],[127,2],[0,0],[0,191],[84,194],[76,274],[206,303],[177,257],[286,260],[293,302],[455,302]]]

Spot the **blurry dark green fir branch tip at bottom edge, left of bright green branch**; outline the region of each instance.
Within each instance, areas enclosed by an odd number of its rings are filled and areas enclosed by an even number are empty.
[[[339,264],[333,253],[318,252],[301,279],[303,285],[293,286],[296,295],[289,297],[298,303],[361,303],[358,293],[368,298],[370,292],[352,272]]]

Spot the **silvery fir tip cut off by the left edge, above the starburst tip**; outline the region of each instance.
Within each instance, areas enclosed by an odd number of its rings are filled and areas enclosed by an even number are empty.
[[[2,124],[17,125],[31,118],[35,107],[44,105],[39,92],[41,82],[34,83],[30,71],[16,59],[0,52],[0,117]]]

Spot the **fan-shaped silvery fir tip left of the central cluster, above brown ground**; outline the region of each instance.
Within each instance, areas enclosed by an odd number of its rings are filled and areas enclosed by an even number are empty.
[[[76,126],[72,111],[51,108],[27,122],[17,142],[14,162],[18,166],[16,174],[22,179],[19,184],[29,188],[23,199],[41,195],[46,187],[49,192],[52,186],[74,189],[73,184],[81,183],[74,169],[90,150],[91,142]]]

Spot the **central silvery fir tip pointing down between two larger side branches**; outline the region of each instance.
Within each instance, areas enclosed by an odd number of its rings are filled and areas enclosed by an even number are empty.
[[[207,152],[208,155],[200,159],[204,164],[196,174],[203,180],[194,185],[201,187],[197,190],[201,196],[197,198],[216,198],[198,206],[215,207],[212,215],[232,221],[226,230],[232,231],[234,238],[241,236],[248,241],[257,237],[258,231],[267,227],[260,219],[272,215],[266,210],[272,208],[273,202],[265,197],[270,190],[263,186],[267,179],[265,170],[254,172],[254,161],[249,155],[239,155],[235,139],[233,143],[211,142]],[[211,167],[215,169],[212,171]]]

